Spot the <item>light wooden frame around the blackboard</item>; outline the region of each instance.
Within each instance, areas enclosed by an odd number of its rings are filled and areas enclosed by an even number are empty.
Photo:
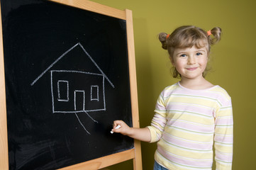
[[[124,11],[116,8],[111,8],[101,4],[97,4],[92,1],[84,0],[50,0],[59,4],[73,6],[75,8],[82,8],[83,10],[92,11],[95,13],[101,13],[106,16],[114,18],[121,18],[126,20],[127,29],[127,44],[128,44],[128,63],[129,63],[129,75],[130,75],[130,98],[133,117],[133,127],[139,128],[139,115],[138,115],[138,94],[137,94],[137,82],[135,71],[135,48],[133,39],[133,16],[132,11],[126,9]],[[1,9],[0,9],[1,12]],[[0,13],[1,17],[1,13]],[[9,153],[8,153],[8,137],[7,137],[7,118],[6,118],[6,91],[5,91],[5,77],[4,77],[4,49],[3,49],[3,37],[2,37],[2,25],[0,21],[0,169],[9,169]],[[111,154],[106,157],[100,157],[98,159],[92,159],[88,162],[82,162],[67,166],[65,169],[102,169],[113,164],[125,162],[133,159],[133,169],[142,169],[141,159],[141,147],[140,142],[134,141],[134,148],[116,154]]]

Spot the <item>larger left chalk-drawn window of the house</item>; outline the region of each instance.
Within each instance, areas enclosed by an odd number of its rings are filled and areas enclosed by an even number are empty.
[[[69,81],[57,81],[57,100],[69,101]]]

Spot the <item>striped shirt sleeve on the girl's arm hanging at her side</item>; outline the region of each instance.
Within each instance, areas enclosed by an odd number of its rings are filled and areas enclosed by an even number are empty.
[[[233,159],[233,110],[231,100],[216,113],[214,134],[216,170],[232,169]]]

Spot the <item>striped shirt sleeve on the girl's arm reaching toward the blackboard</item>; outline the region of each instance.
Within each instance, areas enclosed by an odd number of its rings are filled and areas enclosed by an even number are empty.
[[[167,123],[167,112],[165,109],[165,100],[163,97],[164,92],[160,94],[157,99],[155,106],[155,115],[152,118],[151,125],[148,126],[150,130],[151,140],[150,142],[157,142],[162,137],[162,132],[164,132],[165,125]]]

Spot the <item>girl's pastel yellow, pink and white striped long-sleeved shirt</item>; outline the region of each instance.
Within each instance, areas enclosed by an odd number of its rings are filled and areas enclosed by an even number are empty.
[[[210,170],[213,141],[216,169],[232,168],[231,98],[221,86],[191,90],[179,83],[162,91],[155,107],[150,142],[157,142],[155,161],[172,170]]]

